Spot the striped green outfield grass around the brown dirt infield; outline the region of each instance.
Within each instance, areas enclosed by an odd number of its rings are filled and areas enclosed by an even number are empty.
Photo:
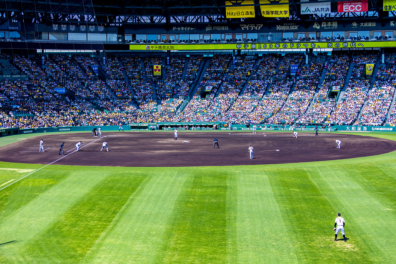
[[[0,162],[0,185],[42,167]],[[232,167],[49,165],[0,187],[0,263],[389,264],[395,171],[396,152]],[[338,212],[346,243],[333,241]]]

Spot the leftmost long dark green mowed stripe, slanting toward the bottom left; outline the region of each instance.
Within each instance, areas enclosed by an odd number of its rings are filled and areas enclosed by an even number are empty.
[[[145,179],[117,174],[106,175],[89,192],[75,197],[73,206],[30,240],[19,255],[30,263],[76,263],[83,258]],[[85,177],[95,181],[97,175]]]

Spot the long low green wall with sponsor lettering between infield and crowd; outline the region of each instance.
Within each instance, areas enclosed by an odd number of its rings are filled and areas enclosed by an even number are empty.
[[[157,130],[157,123],[131,123],[128,125],[122,125],[124,131],[128,130],[150,130],[150,126]],[[253,130],[253,125],[247,127],[246,125],[231,125],[228,127],[227,124],[221,122],[188,122],[188,123],[158,123],[160,130],[173,130],[180,126],[189,126],[189,130],[213,130],[213,125],[217,125],[219,130]],[[192,128],[191,126],[200,126]],[[266,126],[266,127],[265,127]],[[30,133],[48,133],[48,132],[72,132],[72,131],[92,131],[93,128],[99,127],[94,125],[88,126],[75,126],[75,127],[40,127],[30,129],[19,129],[18,127],[13,128],[2,128],[0,129],[0,137],[18,134],[30,134]],[[118,130],[118,125],[103,125],[101,126],[102,131]],[[257,130],[297,130],[297,131],[314,131],[314,125],[306,125],[305,127],[293,127],[290,125],[257,125]],[[329,131],[326,126],[323,128],[319,126],[319,131]],[[369,132],[369,131],[388,131],[396,132],[396,127],[383,127],[383,126],[365,126],[365,125],[333,125],[331,131],[351,131],[351,132]]]

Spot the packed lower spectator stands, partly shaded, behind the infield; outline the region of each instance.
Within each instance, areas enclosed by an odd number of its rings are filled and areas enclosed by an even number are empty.
[[[304,53],[1,53],[0,127],[30,129],[139,122],[396,125],[396,55]],[[364,74],[367,64],[373,74]],[[104,78],[91,68],[98,65]],[[165,74],[152,75],[162,65]],[[291,75],[290,65],[297,65]],[[2,75],[0,75],[2,77]],[[209,89],[208,89],[209,87]],[[338,87],[338,90],[334,90]],[[334,91],[333,91],[334,90]],[[65,91],[65,93],[58,93]]]

